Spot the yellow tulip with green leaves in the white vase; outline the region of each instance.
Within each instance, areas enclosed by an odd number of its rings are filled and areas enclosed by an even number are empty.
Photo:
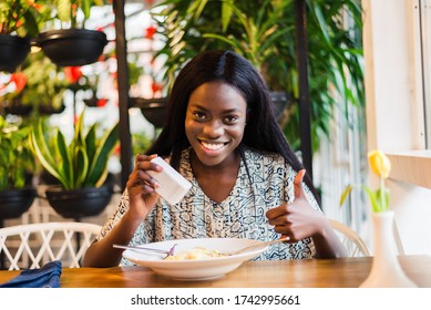
[[[368,162],[372,172],[380,178],[380,188],[372,190],[366,185],[360,185],[367,193],[372,210],[374,213],[383,213],[389,210],[389,189],[384,186],[384,179],[388,178],[391,170],[389,158],[379,149],[368,153]],[[340,206],[343,205],[347,196],[353,189],[353,185],[349,185],[341,194]]]

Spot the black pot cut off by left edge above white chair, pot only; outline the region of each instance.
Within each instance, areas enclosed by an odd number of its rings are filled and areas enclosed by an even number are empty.
[[[33,204],[35,189],[11,189],[0,192],[0,223],[3,219],[17,218]]]

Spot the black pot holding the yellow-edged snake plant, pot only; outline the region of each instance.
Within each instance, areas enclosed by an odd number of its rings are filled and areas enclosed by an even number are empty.
[[[65,190],[61,186],[47,188],[50,206],[62,217],[80,220],[101,214],[112,197],[112,186],[85,187]]]

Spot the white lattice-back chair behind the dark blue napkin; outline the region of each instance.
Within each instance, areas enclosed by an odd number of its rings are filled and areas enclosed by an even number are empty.
[[[101,229],[102,226],[96,224],[75,221],[35,223],[0,228],[2,268],[40,268],[52,260],[61,260],[65,267],[78,268]]]

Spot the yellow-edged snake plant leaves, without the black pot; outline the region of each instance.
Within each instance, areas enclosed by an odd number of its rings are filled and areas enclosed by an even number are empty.
[[[119,141],[119,124],[96,137],[98,123],[84,132],[84,112],[75,124],[74,137],[68,145],[59,127],[51,131],[43,121],[30,132],[31,148],[41,165],[64,189],[100,187],[107,176],[107,161]]]

